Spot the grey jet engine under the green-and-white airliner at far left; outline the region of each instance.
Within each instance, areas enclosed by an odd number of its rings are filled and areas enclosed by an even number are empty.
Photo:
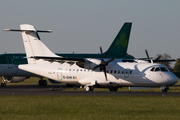
[[[11,82],[11,83],[17,83],[17,82],[21,82],[21,81],[24,81],[25,79],[27,79],[29,77],[26,77],[26,76],[4,76],[4,79],[7,81],[7,82]]]

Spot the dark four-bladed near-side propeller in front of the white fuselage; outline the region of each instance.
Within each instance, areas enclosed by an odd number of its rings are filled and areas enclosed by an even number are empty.
[[[101,52],[101,57],[102,57],[101,63],[100,63],[99,65],[95,66],[95,67],[93,68],[93,70],[95,70],[95,69],[97,69],[97,68],[102,69],[103,72],[104,72],[106,81],[107,81],[106,66],[108,65],[108,63],[112,62],[115,58],[110,59],[110,60],[108,60],[108,61],[104,61],[102,47],[100,47],[100,52]]]

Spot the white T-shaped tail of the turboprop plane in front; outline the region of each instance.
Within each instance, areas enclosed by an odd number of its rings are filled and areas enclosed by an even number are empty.
[[[4,31],[19,31],[22,34],[24,47],[26,51],[26,57],[28,63],[35,63],[35,59],[31,58],[33,56],[45,56],[45,57],[59,57],[51,52],[44,43],[41,42],[38,32],[51,32],[36,30],[34,26],[29,24],[20,25],[20,30],[15,29],[5,29]]]

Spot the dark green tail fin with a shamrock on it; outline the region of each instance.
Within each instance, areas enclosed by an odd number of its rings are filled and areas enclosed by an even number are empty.
[[[109,49],[104,53],[106,56],[126,56],[132,23],[126,22],[115,37]]]

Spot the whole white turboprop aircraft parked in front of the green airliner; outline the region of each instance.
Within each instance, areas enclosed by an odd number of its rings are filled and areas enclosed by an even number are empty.
[[[79,84],[86,91],[94,87],[109,88],[117,91],[119,87],[160,87],[167,92],[178,78],[168,68],[157,63],[128,63],[121,59],[63,58],[51,52],[39,39],[34,26],[20,25],[28,64],[19,68],[52,80],[67,84]],[[102,49],[100,48],[101,53]]]

